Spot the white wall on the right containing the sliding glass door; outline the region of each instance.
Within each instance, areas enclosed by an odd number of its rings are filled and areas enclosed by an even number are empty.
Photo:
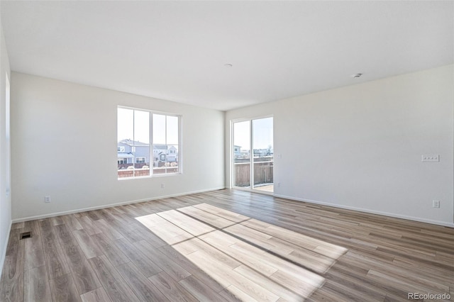
[[[273,114],[275,195],[454,226],[453,83],[449,65],[228,111],[226,152],[232,119]]]

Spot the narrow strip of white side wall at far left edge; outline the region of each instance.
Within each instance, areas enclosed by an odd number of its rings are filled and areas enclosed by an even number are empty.
[[[6,77],[10,77],[9,58],[0,20],[0,272],[6,253],[6,245],[11,228],[11,194],[6,194],[6,184],[10,176],[6,167],[9,156],[6,146]],[[10,78],[11,79],[11,78]]]

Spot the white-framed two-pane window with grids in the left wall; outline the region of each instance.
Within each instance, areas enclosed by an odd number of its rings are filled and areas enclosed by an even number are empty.
[[[118,179],[180,172],[176,115],[118,107]]]

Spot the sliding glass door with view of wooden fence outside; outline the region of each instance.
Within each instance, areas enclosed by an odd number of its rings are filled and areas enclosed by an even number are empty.
[[[233,186],[273,191],[273,118],[233,123]]]

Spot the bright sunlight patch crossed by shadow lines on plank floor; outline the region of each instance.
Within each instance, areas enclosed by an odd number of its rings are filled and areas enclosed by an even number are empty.
[[[135,218],[243,301],[301,301],[348,250],[201,203]]]

